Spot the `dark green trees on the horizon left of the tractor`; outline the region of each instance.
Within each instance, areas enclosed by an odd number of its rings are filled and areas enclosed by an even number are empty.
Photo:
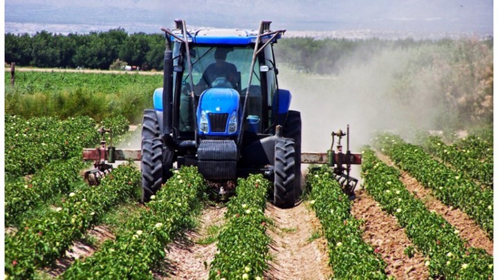
[[[48,68],[109,69],[116,59],[144,70],[163,68],[164,36],[129,35],[124,29],[89,34],[53,34],[45,30],[35,35],[6,35],[6,62],[19,66]]]

